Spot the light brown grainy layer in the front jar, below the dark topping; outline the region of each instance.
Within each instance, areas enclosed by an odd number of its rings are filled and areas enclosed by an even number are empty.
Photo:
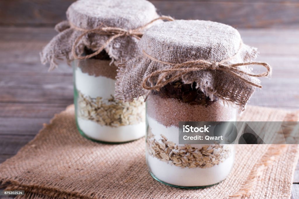
[[[164,126],[179,126],[188,121],[228,121],[235,118],[237,110],[218,102],[210,105],[192,105],[174,98],[149,95],[147,114]]]

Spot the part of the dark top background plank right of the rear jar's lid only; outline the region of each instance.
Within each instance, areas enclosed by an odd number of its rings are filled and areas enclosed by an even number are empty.
[[[176,19],[201,19],[234,27],[298,26],[297,3],[151,1],[160,13]],[[273,12],[275,10],[275,12]]]

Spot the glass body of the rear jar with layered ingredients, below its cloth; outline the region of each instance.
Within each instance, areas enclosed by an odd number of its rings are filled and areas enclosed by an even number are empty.
[[[117,67],[108,55],[73,61],[74,104],[77,128],[94,141],[121,143],[145,135],[143,100],[116,100]]]

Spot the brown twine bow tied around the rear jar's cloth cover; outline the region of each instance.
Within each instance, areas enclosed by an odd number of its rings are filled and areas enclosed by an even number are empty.
[[[167,20],[167,21],[174,21],[174,19],[170,16],[161,16],[159,18],[153,19],[152,21],[150,21],[149,23],[145,24],[144,26],[141,26],[139,28],[136,29],[132,29],[132,30],[126,30],[123,28],[118,28],[118,27],[102,27],[99,26],[97,28],[94,29],[84,29],[84,28],[80,28],[80,27],[76,27],[74,24],[70,23],[70,26],[76,30],[79,31],[84,31],[84,33],[82,33],[74,42],[73,46],[72,46],[72,54],[74,56],[74,59],[89,59],[97,54],[99,54],[102,50],[104,50],[104,48],[110,43],[112,42],[114,39],[118,38],[118,37],[122,37],[122,36],[132,36],[135,37],[136,39],[141,39],[141,36],[143,35],[142,30],[144,30],[144,28],[146,28],[148,25],[152,24],[153,22],[157,21],[157,20]],[[97,51],[95,51],[92,54],[86,55],[86,56],[78,56],[76,53],[76,48],[78,43],[80,42],[80,40],[83,38],[83,36],[89,34],[89,33],[96,33],[96,34],[100,34],[100,35],[109,35],[111,36]]]

